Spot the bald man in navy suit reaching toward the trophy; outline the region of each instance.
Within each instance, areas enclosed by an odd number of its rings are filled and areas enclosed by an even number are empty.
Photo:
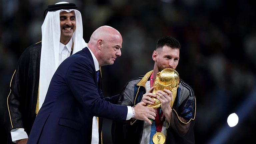
[[[121,56],[121,48],[121,34],[110,26],[102,26],[93,32],[88,47],[61,63],[28,144],[101,143],[97,117],[123,121],[135,118],[151,124],[148,118],[155,119],[155,110],[143,106],[145,103],[130,107],[104,100],[97,73],[99,67],[112,65]]]

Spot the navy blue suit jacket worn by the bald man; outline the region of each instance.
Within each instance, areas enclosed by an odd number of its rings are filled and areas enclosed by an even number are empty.
[[[90,144],[93,116],[126,120],[127,107],[103,99],[86,47],[63,61],[53,75],[28,144]]]

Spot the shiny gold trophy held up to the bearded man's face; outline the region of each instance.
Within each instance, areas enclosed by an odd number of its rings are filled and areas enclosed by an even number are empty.
[[[156,94],[158,90],[164,90],[168,89],[172,92],[172,101],[170,102],[170,106],[172,108],[176,94],[177,94],[177,88],[179,87],[179,73],[171,68],[163,69],[161,72],[157,73],[156,79],[153,83],[153,86],[155,89],[153,90],[153,94]],[[161,102],[157,99],[152,97],[152,99],[155,101],[154,104],[147,104],[146,106],[157,109],[161,106]]]

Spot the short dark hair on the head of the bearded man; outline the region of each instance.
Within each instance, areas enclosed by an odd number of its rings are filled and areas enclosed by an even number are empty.
[[[162,48],[162,47],[165,46],[165,45],[167,45],[167,46],[169,46],[169,47],[171,47],[171,48],[173,48],[173,49],[176,49],[176,48],[180,49],[180,43],[179,43],[179,41],[176,40],[176,39],[175,39],[174,37],[172,37],[172,36],[163,36],[163,37],[161,37],[161,38],[157,41],[157,43],[156,43],[156,49]]]

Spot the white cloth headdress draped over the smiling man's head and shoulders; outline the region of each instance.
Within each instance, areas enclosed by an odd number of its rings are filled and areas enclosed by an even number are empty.
[[[60,4],[60,3],[57,3]],[[59,66],[60,12],[75,11],[76,29],[72,35],[73,54],[87,46],[83,39],[81,13],[75,9],[49,11],[42,25],[42,50],[40,59],[39,109],[41,108],[53,74]]]

